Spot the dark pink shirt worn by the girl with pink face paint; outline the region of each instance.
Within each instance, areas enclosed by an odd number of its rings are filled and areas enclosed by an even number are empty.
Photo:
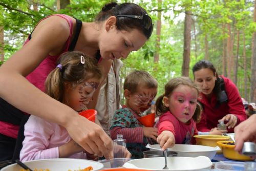
[[[159,117],[156,127],[158,127],[158,135],[163,131],[172,132],[176,144],[194,144],[196,142],[193,136],[197,135],[198,131],[196,122],[192,118],[188,123],[183,123],[168,111]]]

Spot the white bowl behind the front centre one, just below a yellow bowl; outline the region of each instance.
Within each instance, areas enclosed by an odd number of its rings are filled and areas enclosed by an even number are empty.
[[[159,144],[151,145],[154,148],[160,148]],[[178,153],[178,157],[198,157],[206,156],[209,159],[214,158],[217,151],[220,150],[219,146],[211,147],[204,145],[190,145],[190,144],[175,144],[172,148],[168,148],[168,151]]]

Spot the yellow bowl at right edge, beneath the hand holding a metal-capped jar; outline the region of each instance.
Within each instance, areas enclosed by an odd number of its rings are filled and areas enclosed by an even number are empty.
[[[241,155],[237,151],[234,151],[234,145],[227,144],[233,143],[233,141],[218,141],[217,144],[221,146],[223,156],[231,160],[250,161],[252,160],[249,156]]]

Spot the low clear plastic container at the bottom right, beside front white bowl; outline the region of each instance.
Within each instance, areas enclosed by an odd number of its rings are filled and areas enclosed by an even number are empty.
[[[244,162],[233,162],[233,161],[219,161],[215,163],[215,169],[218,170],[234,170],[242,171],[244,170]]]

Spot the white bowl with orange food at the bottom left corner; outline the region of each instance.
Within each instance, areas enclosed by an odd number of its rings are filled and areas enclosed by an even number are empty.
[[[24,162],[32,170],[37,169],[50,169],[50,171],[65,171],[68,169],[78,170],[92,166],[93,170],[99,170],[103,168],[103,164],[84,159],[42,159],[42,160],[32,160]],[[11,164],[2,168],[0,171],[17,171],[22,169],[18,164]]]

